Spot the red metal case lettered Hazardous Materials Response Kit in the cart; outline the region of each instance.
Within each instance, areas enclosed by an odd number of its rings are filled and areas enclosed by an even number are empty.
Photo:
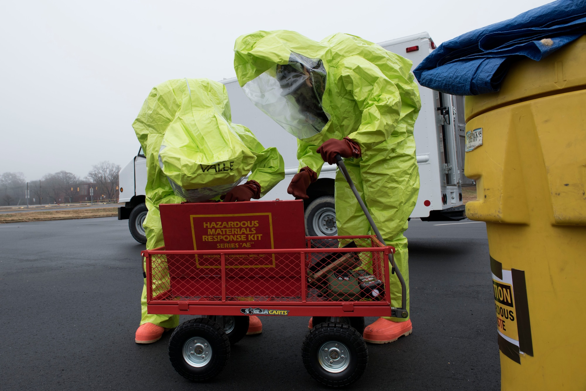
[[[162,204],[159,211],[168,251],[216,252],[168,255],[175,294],[193,297],[217,291],[220,280],[214,276],[222,267],[220,252],[254,249],[265,252],[226,255],[229,296],[246,296],[251,285],[263,296],[294,294],[292,280],[301,276],[298,264],[290,262],[289,253],[266,251],[305,246],[303,201]]]

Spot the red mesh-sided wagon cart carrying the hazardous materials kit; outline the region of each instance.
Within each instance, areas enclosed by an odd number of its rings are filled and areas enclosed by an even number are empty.
[[[408,316],[394,248],[341,158],[338,166],[376,236],[305,237],[301,200],[159,205],[166,246],[142,252],[148,313],[201,315],[169,339],[180,375],[206,380],[222,371],[250,315],[312,316],[305,368],[325,385],[349,385],[367,365],[364,317]],[[401,283],[400,308],[391,307],[390,276]]]

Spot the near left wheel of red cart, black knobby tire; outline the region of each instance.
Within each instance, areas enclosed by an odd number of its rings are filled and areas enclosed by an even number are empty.
[[[189,380],[212,379],[230,358],[230,340],[219,324],[207,318],[180,324],[169,339],[169,359],[175,371]]]

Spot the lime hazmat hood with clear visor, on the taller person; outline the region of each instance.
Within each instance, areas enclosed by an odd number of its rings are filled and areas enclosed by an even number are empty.
[[[327,46],[278,30],[241,36],[234,50],[240,86],[254,105],[299,139],[323,130]]]

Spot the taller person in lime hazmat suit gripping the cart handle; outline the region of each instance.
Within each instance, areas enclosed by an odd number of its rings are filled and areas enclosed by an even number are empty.
[[[337,33],[315,42],[277,30],[240,36],[234,70],[250,100],[298,138],[299,172],[288,193],[308,198],[323,162],[345,160],[407,283],[407,218],[419,191],[413,126],[421,108],[411,61],[360,37]],[[335,180],[339,235],[371,234],[370,225],[340,172]],[[401,286],[391,278],[393,306]],[[310,328],[311,320],[310,320]],[[409,318],[379,318],[364,339],[383,344],[411,333]]]

